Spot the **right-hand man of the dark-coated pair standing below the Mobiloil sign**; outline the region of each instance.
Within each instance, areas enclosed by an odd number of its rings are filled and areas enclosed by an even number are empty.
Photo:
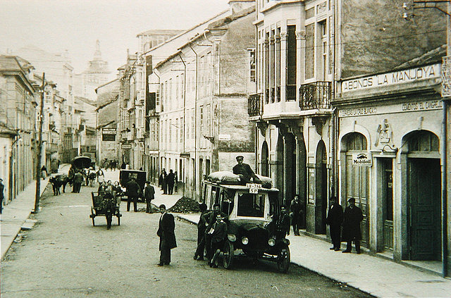
[[[347,200],[349,206],[345,209],[343,216],[343,232],[342,240],[347,242],[347,247],[343,252],[351,252],[352,241],[355,244],[355,250],[357,254],[360,254],[360,240],[362,239],[362,231],[360,228],[360,222],[364,219],[362,209],[355,206],[355,199],[350,198]]]

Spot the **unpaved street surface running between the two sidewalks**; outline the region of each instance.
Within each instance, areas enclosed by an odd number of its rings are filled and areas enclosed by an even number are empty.
[[[184,221],[175,222],[171,265],[159,267],[159,213],[126,212],[122,201],[120,226],[116,217],[111,230],[104,217],[92,226],[96,190],[54,197],[48,186],[37,225],[1,263],[1,297],[371,297],[297,266],[282,274],[274,263],[237,259],[233,270],[209,268],[192,259],[197,227]]]

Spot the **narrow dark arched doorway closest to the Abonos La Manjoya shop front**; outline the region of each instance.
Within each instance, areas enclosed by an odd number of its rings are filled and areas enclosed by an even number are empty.
[[[327,182],[326,145],[321,139],[316,147],[316,234],[326,234]]]

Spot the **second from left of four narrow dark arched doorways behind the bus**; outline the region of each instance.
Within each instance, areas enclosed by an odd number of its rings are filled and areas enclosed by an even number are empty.
[[[285,135],[285,204],[290,205],[296,193],[296,141],[292,133]]]

